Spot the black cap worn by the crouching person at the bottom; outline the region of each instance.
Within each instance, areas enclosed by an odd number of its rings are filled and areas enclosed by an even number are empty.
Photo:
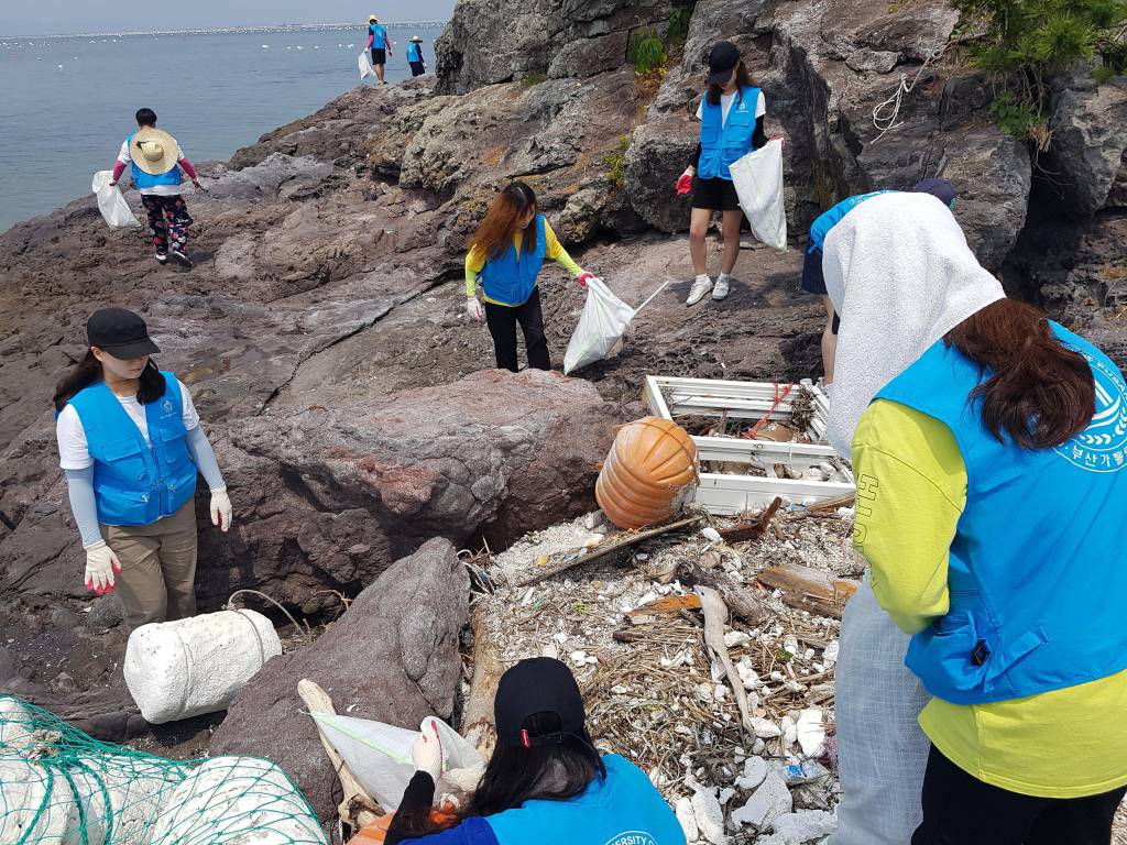
[[[525,720],[536,713],[558,715],[559,731],[531,735],[524,727]],[[579,685],[567,666],[550,657],[521,660],[500,676],[494,700],[494,717],[497,738],[511,745],[525,748],[559,745],[569,736],[589,741],[584,727],[587,714]]]

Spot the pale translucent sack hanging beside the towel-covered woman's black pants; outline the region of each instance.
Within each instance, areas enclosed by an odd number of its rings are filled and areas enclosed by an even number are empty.
[[[906,845],[923,820],[928,693],[904,666],[907,648],[866,578],[845,605],[834,669],[842,803],[829,845]]]

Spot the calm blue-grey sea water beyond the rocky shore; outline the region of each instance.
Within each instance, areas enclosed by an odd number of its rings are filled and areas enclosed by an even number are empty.
[[[407,41],[434,70],[438,27],[389,27],[387,79],[410,77]],[[198,164],[360,84],[367,25],[344,29],[0,38],[0,232],[90,193],[148,106]],[[62,65],[62,66],[60,66]],[[374,84],[369,78],[364,84]]]

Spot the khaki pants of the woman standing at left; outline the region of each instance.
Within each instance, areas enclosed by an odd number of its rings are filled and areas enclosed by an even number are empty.
[[[131,632],[149,622],[195,614],[194,501],[151,525],[103,525],[101,536],[122,564],[117,595]]]

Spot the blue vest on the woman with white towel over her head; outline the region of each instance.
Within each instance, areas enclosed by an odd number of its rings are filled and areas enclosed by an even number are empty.
[[[1127,385],[1103,353],[1051,326],[1095,380],[1091,424],[1057,448],[991,435],[982,400],[970,398],[978,366],[942,340],[877,394],[943,422],[966,463],[950,610],[912,638],[905,661],[929,693],[956,704],[1020,699],[1127,668]]]

